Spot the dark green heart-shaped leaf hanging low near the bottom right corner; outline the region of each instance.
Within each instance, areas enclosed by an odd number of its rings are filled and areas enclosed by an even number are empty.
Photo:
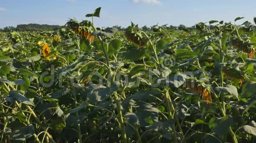
[[[231,115],[226,115],[222,118],[213,117],[209,121],[209,128],[218,136],[228,133],[230,126],[233,124]]]

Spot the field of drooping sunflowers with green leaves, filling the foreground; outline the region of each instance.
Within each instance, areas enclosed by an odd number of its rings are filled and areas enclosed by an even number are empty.
[[[0,32],[0,143],[256,143],[256,18],[118,31],[100,10]]]

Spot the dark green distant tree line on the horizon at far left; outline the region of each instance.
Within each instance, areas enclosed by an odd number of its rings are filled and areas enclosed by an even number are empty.
[[[47,25],[47,24],[22,24],[17,25],[17,27],[14,26],[6,26],[3,29],[0,29],[0,31],[3,32],[10,32],[10,31],[42,31],[42,30],[57,30],[61,29],[63,26],[60,25]]]

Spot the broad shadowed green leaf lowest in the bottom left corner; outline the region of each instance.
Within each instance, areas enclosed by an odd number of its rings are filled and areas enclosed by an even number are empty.
[[[31,136],[33,136],[34,133],[34,126],[30,124],[26,127],[20,127],[19,129],[11,132],[11,139],[25,141],[26,139],[29,139]]]

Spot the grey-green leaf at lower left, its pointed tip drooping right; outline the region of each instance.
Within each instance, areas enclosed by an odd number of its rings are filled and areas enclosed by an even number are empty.
[[[4,97],[6,100],[14,103],[15,101],[19,101],[23,104],[32,105],[34,106],[34,102],[30,101],[28,98],[24,97],[22,94],[18,93],[17,91],[11,90],[9,96]]]

